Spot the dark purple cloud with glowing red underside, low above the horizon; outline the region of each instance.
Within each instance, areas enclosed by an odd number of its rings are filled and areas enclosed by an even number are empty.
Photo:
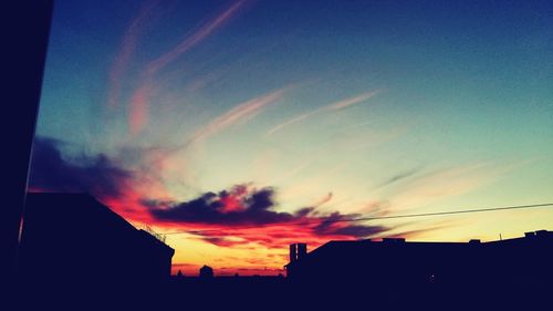
[[[153,218],[176,232],[194,234],[220,246],[246,248],[252,243],[282,249],[292,242],[320,245],[328,239],[358,239],[389,230],[382,226],[354,224],[358,215],[320,214],[316,207],[294,212],[274,210],[273,189],[234,186],[219,194],[208,193],[186,203],[146,201]]]

